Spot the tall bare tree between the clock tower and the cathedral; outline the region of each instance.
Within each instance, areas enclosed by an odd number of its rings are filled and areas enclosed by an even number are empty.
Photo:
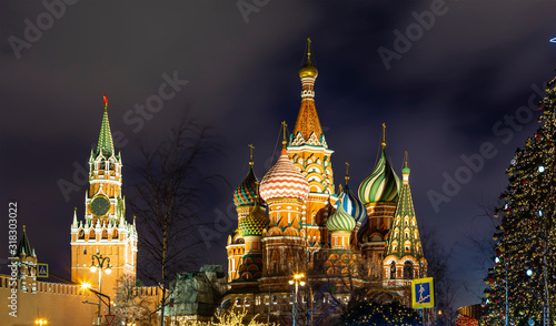
[[[140,146],[142,163],[130,202],[137,215],[140,274],[162,289],[161,325],[169,281],[179,271],[196,266],[203,240],[196,230],[203,197],[221,177],[209,174],[206,163],[218,151],[218,142],[199,122],[188,119],[153,150]]]

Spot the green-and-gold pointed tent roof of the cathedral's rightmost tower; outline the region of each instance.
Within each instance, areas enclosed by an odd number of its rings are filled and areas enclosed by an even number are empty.
[[[419,261],[423,255],[423,245],[417,227],[415,215],[414,201],[411,190],[409,187],[409,167],[407,166],[407,157],[403,169],[404,182],[399,193],[399,201],[394,214],[394,221],[388,236],[388,247],[386,255],[394,255],[401,259],[404,256],[411,256]],[[406,243],[409,244],[409,249],[406,249]],[[394,251],[396,245],[396,251]]]

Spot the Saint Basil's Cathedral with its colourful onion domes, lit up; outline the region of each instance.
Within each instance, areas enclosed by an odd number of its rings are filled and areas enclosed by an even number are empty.
[[[315,105],[318,71],[310,50],[309,40],[306,64],[299,70],[301,105],[294,132],[287,140],[284,125],[281,154],[260,182],[251,149],[249,172],[234,193],[238,228],[226,247],[230,291],[224,302],[251,306],[270,322],[279,322],[281,309],[291,310],[296,287],[298,304],[310,303],[314,309],[319,291],[328,294],[319,298],[328,306],[347,304],[357,294],[410,307],[411,279],[426,277],[427,261],[407,154],[400,180],[386,155],[383,124],[380,156],[359,184],[358,196],[347,169],[345,184],[336,192],[334,151]]]

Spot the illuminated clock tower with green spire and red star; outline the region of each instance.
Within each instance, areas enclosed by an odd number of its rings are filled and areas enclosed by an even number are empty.
[[[89,190],[85,195],[85,218],[77,208],[71,224],[71,281],[98,286],[98,272],[90,271],[92,255],[110,258],[111,273],[102,276],[102,293],[116,293],[116,281],[136,277],[137,230],[126,221],[126,201],[121,193],[121,156],[113,150],[108,121],[107,99],[97,151],[89,157]]]

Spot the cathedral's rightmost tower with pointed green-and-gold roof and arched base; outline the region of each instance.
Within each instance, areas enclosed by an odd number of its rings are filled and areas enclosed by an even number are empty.
[[[427,275],[427,261],[423,254],[417,218],[415,215],[411,190],[409,189],[409,166],[407,152],[401,170],[403,184],[394,223],[388,234],[388,245],[384,258],[384,286],[406,288],[406,300],[410,302],[407,288],[413,278]]]

